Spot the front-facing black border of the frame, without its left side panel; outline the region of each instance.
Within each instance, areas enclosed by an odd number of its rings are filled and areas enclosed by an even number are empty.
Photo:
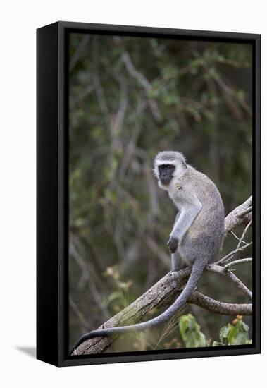
[[[242,354],[256,354],[261,353],[261,35],[258,34],[244,34],[237,32],[212,32],[212,31],[199,31],[199,30],[179,30],[169,28],[147,28],[137,26],[124,26],[124,25],[102,25],[94,23],[73,23],[73,22],[57,22],[54,23],[58,27],[58,115],[57,132],[58,132],[58,164],[55,168],[58,171],[58,192],[56,193],[58,198],[58,255],[57,255],[57,271],[58,271],[58,284],[57,284],[57,296],[58,301],[58,343],[56,344],[57,362],[51,362],[57,366],[71,366],[71,365],[92,365],[103,363],[125,363],[145,360],[170,360],[180,358],[199,358],[199,357],[211,357],[211,356],[236,356]],[[44,27],[46,28],[46,27]],[[67,90],[67,77],[65,74],[66,69],[66,33],[71,30],[93,30],[103,32],[110,32],[116,35],[117,32],[126,34],[137,33],[145,35],[173,35],[173,37],[180,37],[182,33],[183,37],[200,37],[200,38],[212,38],[214,40],[240,40],[243,42],[251,41],[254,44],[254,212],[256,214],[254,221],[254,241],[255,250],[254,255],[256,257],[254,264],[254,278],[257,279],[253,285],[254,301],[253,306],[255,308],[254,313],[254,344],[251,346],[228,346],[220,349],[182,349],[175,353],[166,351],[165,353],[142,353],[128,355],[124,353],[112,353],[111,355],[101,356],[68,356],[68,298],[66,297],[66,288],[68,288],[68,262],[66,257],[66,204],[68,202],[68,166],[66,161],[68,160],[68,139],[66,137],[66,126],[68,112],[66,111],[66,95]],[[138,352],[140,353],[140,352]],[[49,362],[49,360],[45,360]]]

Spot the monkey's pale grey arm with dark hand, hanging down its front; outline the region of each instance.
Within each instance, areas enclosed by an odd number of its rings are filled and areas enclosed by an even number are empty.
[[[193,198],[192,202],[185,202],[182,205],[179,217],[177,217],[177,220],[175,219],[175,224],[167,243],[171,253],[175,252],[178,244],[182,241],[182,238],[185,236],[188,229],[190,229],[190,226],[197,217],[197,214],[199,214],[201,208],[202,205],[197,196]]]

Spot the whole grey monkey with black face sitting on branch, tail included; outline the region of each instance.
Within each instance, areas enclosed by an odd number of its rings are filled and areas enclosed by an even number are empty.
[[[93,337],[110,336],[132,330],[144,330],[170,319],[194,292],[206,264],[216,259],[224,238],[224,208],[216,185],[186,163],[180,152],[159,152],[154,161],[159,187],[168,191],[178,214],[168,240],[172,269],[192,267],[190,278],[173,305],[147,322],[123,327],[108,327],[89,332],[74,348]]]

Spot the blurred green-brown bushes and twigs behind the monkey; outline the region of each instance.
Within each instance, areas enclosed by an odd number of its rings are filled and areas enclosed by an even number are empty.
[[[71,34],[69,54],[71,346],[170,269],[175,208],[151,173],[157,152],[183,152],[216,183],[225,214],[251,195],[252,48]],[[230,236],[222,255],[236,241]],[[249,287],[251,270],[235,272]],[[246,302],[216,274],[198,289]],[[167,330],[129,334],[109,351],[184,347],[178,322],[190,311],[207,341],[220,341],[233,319],[188,305]],[[244,322],[251,328],[249,317]]]

